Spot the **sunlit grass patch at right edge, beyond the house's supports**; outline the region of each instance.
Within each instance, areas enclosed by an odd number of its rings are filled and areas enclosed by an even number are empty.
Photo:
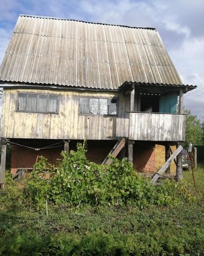
[[[193,170],[198,193],[204,196],[204,165],[198,165],[198,167]],[[183,171],[183,178],[188,186],[195,192],[192,170],[190,169],[189,171]]]

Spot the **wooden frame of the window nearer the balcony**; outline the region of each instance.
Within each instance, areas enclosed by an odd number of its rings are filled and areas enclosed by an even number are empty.
[[[89,113],[86,114],[86,113],[81,113],[81,99],[89,99]],[[109,100],[116,100],[116,114],[99,114],[99,110],[100,110],[100,106],[98,104],[98,114],[91,114],[90,113],[90,99],[97,99],[98,102],[100,99],[104,99],[104,100],[107,100],[107,110],[109,112]],[[83,115],[83,116],[118,116],[118,97],[112,97],[112,98],[108,98],[108,97],[91,97],[91,96],[84,96],[84,97],[79,97],[79,115]]]

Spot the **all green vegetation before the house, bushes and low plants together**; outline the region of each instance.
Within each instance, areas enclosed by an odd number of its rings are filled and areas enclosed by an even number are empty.
[[[152,186],[128,162],[96,165],[85,151],[63,153],[58,170],[41,158],[28,181],[7,174],[0,255],[203,255],[204,205],[191,187]]]

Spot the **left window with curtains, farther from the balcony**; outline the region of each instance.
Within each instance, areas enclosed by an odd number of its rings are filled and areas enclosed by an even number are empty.
[[[18,93],[18,102],[16,110],[29,112],[58,112],[58,95]]]

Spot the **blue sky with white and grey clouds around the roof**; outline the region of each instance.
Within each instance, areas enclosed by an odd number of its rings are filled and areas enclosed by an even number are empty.
[[[203,120],[203,13],[203,0],[0,0],[0,63],[19,14],[156,28],[183,84],[198,86],[184,106]]]

